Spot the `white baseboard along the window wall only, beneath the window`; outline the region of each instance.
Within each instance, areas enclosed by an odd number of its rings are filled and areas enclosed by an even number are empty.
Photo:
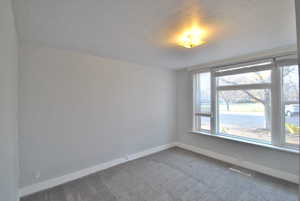
[[[227,156],[224,154],[219,154],[219,153],[212,152],[212,151],[202,149],[199,147],[195,147],[192,145],[187,145],[187,144],[183,144],[183,143],[175,143],[175,146],[180,147],[185,150],[188,150],[188,151],[192,151],[192,152],[204,155],[204,156],[208,156],[210,158],[214,158],[214,159],[226,162],[226,163],[237,165],[237,166],[247,168],[250,170],[254,170],[256,172],[266,174],[266,175],[269,175],[269,176],[272,176],[275,178],[279,178],[279,179],[283,179],[283,180],[286,180],[286,181],[289,181],[292,183],[299,184],[299,176],[298,175],[294,175],[294,174],[287,173],[284,171],[276,170],[276,169],[269,168],[269,167],[266,167],[263,165],[258,165],[258,164],[255,164],[255,163],[252,163],[249,161],[241,161],[234,157],[230,157],[230,156]]]

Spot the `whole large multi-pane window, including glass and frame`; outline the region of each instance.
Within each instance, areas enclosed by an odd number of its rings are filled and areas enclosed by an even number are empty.
[[[299,74],[295,56],[195,72],[194,131],[299,146]]]

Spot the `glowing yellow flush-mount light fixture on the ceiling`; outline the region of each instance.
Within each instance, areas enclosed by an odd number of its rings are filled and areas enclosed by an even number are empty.
[[[185,48],[193,48],[204,43],[205,31],[199,27],[192,27],[184,31],[178,38],[178,44]]]

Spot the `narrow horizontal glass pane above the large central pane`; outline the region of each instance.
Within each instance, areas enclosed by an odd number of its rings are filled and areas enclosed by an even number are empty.
[[[259,71],[242,73],[237,75],[227,75],[218,78],[219,86],[240,85],[240,84],[261,84],[271,82],[271,71]]]

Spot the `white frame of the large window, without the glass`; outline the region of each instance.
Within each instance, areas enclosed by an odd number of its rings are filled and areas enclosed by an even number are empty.
[[[296,56],[295,54],[289,54]],[[250,62],[240,62],[234,65],[220,66],[220,67],[212,67],[206,68],[203,70],[193,71],[193,132],[203,133],[212,136],[221,136],[228,137],[228,139],[233,138],[235,140],[241,140],[246,142],[258,143],[271,147],[279,147],[283,149],[293,149],[299,151],[299,144],[289,144],[285,140],[285,127],[284,127],[284,116],[282,111],[283,107],[283,93],[282,93],[282,67],[278,65],[277,59],[280,57],[272,57],[267,59],[260,59],[256,61]],[[255,63],[265,63],[264,65],[255,65]],[[298,63],[297,63],[298,64]],[[243,65],[244,67],[238,67]],[[253,66],[254,65],[254,66]],[[299,64],[298,64],[299,66]],[[229,69],[229,70],[227,70]],[[232,70],[230,70],[232,69]],[[259,72],[264,70],[271,71],[271,80],[270,83],[254,83],[254,84],[239,84],[239,85],[228,85],[228,86],[218,86],[217,78],[222,75],[237,75],[247,72]],[[299,70],[299,69],[298,69]],[[195,91],[197,90],[194,85],[194,75],[196,73],[210,73],[210,96],[211,96],[211,110],[210,114],[206,115],[206,117],[210,117],[210,128],[211,130],[195,130]],[[222,90],[239,90],[239,89],[270,89],[271,92],[271,141],[268,143],[263,140],[256,140],[247,137],[240,137],[231,134],[222,134],[219,133],[218,125],[218,92]],[[202,115],[201,115],[202,116]]]

